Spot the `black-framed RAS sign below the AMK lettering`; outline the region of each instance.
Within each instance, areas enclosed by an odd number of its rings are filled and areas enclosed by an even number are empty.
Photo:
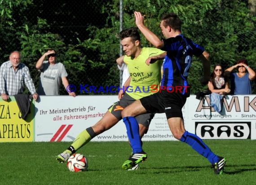
[[[202,139],[251,139],[251,122],[195,122]]]

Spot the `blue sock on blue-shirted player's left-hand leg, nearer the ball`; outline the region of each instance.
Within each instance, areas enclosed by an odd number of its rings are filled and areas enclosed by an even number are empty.
[[[142,152],[139,124],[133,116],[123,118],[127,135],[132,146],[132,154]]]

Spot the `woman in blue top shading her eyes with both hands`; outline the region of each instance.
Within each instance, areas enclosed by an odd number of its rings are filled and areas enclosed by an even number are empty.
[[[238,68],[238,73],[231,73],[235,68]],[[256,75],[246,59],[239,60],[236,65],[226,69],[225,74],[230,75],[231,94],[252,94],[252,80]]]

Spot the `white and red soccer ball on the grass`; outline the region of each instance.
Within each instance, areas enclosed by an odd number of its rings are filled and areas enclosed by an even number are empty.
[[[67,167],[71,172],[82,172],[88,168],[88,162],[83,154],[73,154],[67,160]]]

